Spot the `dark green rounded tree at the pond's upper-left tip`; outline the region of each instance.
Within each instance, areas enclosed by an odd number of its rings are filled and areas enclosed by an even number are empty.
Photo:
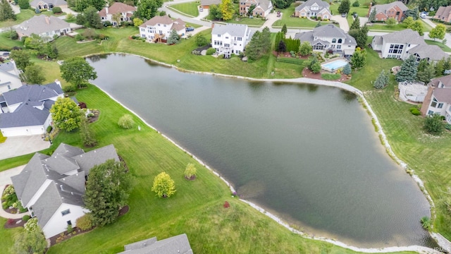
[[[94,80],[97,78],[97,73],[94,68],[81,57],[73,57],[63,62],[60,66],[61,77],[73,85],[82,85],[87,80]]]

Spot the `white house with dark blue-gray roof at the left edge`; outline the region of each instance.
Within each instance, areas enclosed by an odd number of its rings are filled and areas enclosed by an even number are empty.
[[[63,97],[61,83],[23,85],[0,95],[0,131],[4,137],[38,135],[51,125],[49,109]]]

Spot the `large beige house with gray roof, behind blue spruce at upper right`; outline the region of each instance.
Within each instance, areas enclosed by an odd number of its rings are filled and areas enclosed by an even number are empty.
[[[431,62],[440,61],[448,57],[440,47],[426,44],[424,38],[412,29],[390,32],[386,35],[376,35],[373,37],[371,47],[376,51],[380,51],[383,58],[405,60],[413,55],[416,61],[427,59]]]

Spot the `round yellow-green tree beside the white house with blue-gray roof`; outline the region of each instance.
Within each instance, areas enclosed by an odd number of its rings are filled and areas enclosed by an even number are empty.
[[[69,97],[58,97],[50,109],[51,119],[55,126],[64,131],[72,131],[80,127],[82,111]]]

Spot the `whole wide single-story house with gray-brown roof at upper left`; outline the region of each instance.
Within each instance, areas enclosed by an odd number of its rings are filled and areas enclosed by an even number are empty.
[[[19,39],[32,34],[39,35],[44,41],[54,40],[54,37],[70,32],[70,24],[55,16],[33,16],[16,27]]]

